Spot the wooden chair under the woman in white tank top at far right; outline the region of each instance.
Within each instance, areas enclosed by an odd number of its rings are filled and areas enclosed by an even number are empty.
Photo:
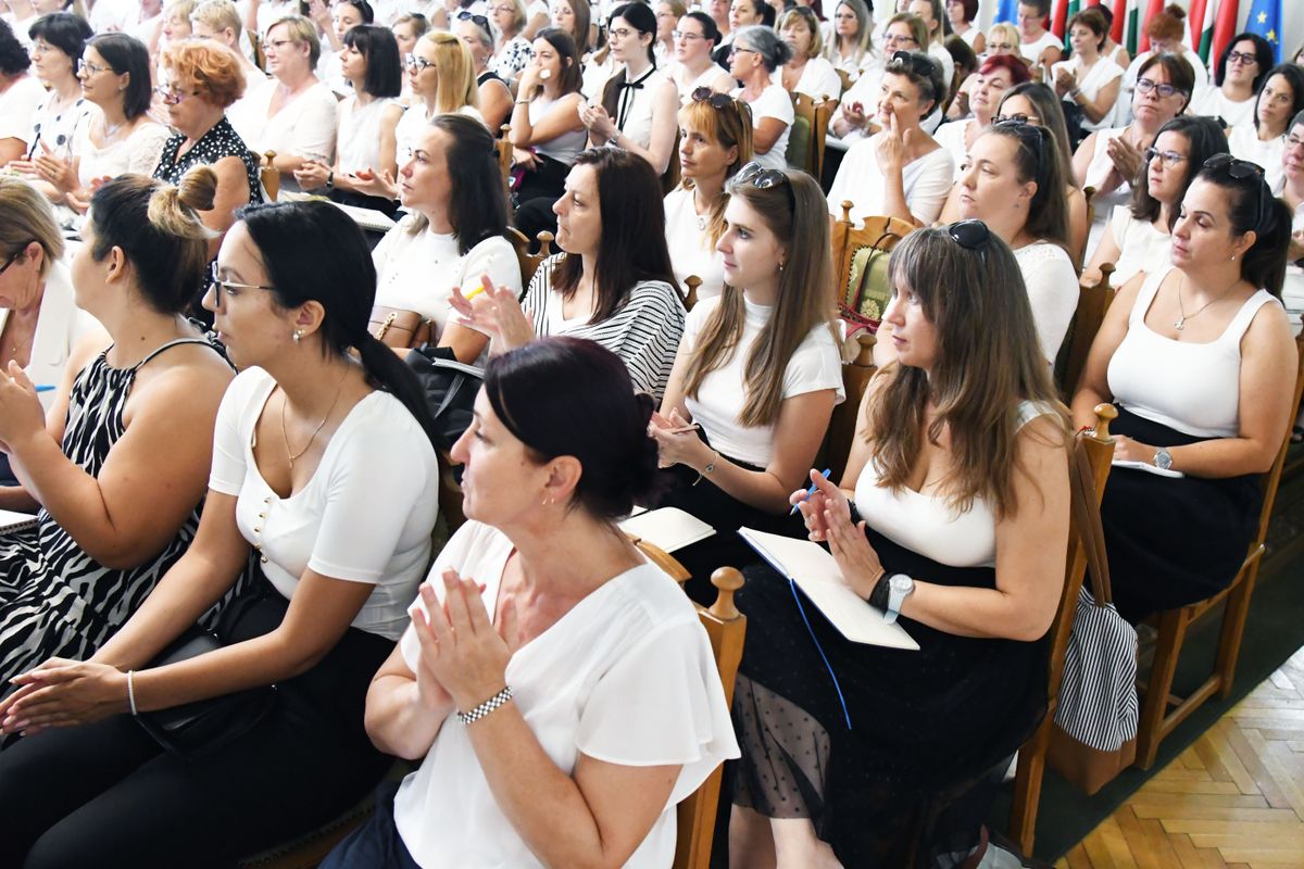
[[[1295,340],[1299,360],[1295,369],[1295,400],[1291,408],[1300,404],[1304,392],[1304,336]],[[1150,668],[1149,684],[1138,685],[1142,692],[1141,718],[1137,722],[1137,766],[1144,770],[1154,765],[1162,743],[1178,726],[1196,711],[1201,704],[1213,696],[1219,700],[1231,693],[1236,676],[1236,658],[1240,654],[1240,638],[1245,632],[1245,616],[1249,614],[1249,599],[1254,593],[1254,581],[1264,560],[1264,538],[1267,535],[1267,520],[1277,500],[1277,485],[1282,479],[1282,466],[1286,464],[1286,451],[1291,444],[1291,423],[1286,423],[1282,446],[1277,451],[1273,466],[1261,478],[1264,504],[1258,511],[1258,533],[1249,545],[1245,560],[1231,585],[1218,594],[1179,607],[1166,610],[1155,616],[1158,638],[1155,641],[1154,664]],[[1222,614],[1222,627],[1218,636],[1218,654],[1214,658],[1213,674],[1187,697],[1172,696],[1172,677],[1178,671],[1178,658],[1187,629],[1219,603],[1226,603]],[[1168,707],[1174,706],[1172,711]]]

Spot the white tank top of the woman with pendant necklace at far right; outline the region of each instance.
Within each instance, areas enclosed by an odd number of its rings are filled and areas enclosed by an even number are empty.
[[[1240,434],[1240,339],[1258,309],[1279,305],[1260,289],[1217,340],[1175,341],[1145,324],[1146,311],[1172,268],[1151,272],[1128,315],[1128,334],[1110,360],[1114,400],[1132,413],[1197,438]]]

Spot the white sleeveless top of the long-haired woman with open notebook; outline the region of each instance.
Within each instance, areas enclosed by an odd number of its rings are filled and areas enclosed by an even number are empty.
[[[1054,413],[1034,401],[1018,405],[1020,427]],[[974,498],[957,513],[944,491],[930,487],[892,491],[879,483],[872,461],[855,479],[855,509],[866,524],[893,543],[949,567],[996,567],[996,513],[982,498]]]

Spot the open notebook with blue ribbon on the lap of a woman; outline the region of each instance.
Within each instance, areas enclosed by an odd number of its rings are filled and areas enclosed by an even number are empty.
[[[795,582],[811,603],[819,607],[833,627],[852,642],[918,651],[919,644],[905,632],[905,628],[900,624],[888,624],[883,612],[871,607],[842,582],[837,562],[819,543],[750,528],[739,528],[738,535],[778,571],[780,576]]]

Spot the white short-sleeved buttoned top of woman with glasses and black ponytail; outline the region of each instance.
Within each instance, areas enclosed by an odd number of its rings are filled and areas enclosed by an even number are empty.
[[[438,509],[434,447],[407,408],[377,390],[331,435],[308,483],[282,498],[263,481],[250,447],[276,387],[259,367],[227,387],[218,409],[209,487],[235,495],[240,534],[263,555],[262,571],[287,599],[305,569],[376,589],[352,627],[396,640],[430,559]]]

